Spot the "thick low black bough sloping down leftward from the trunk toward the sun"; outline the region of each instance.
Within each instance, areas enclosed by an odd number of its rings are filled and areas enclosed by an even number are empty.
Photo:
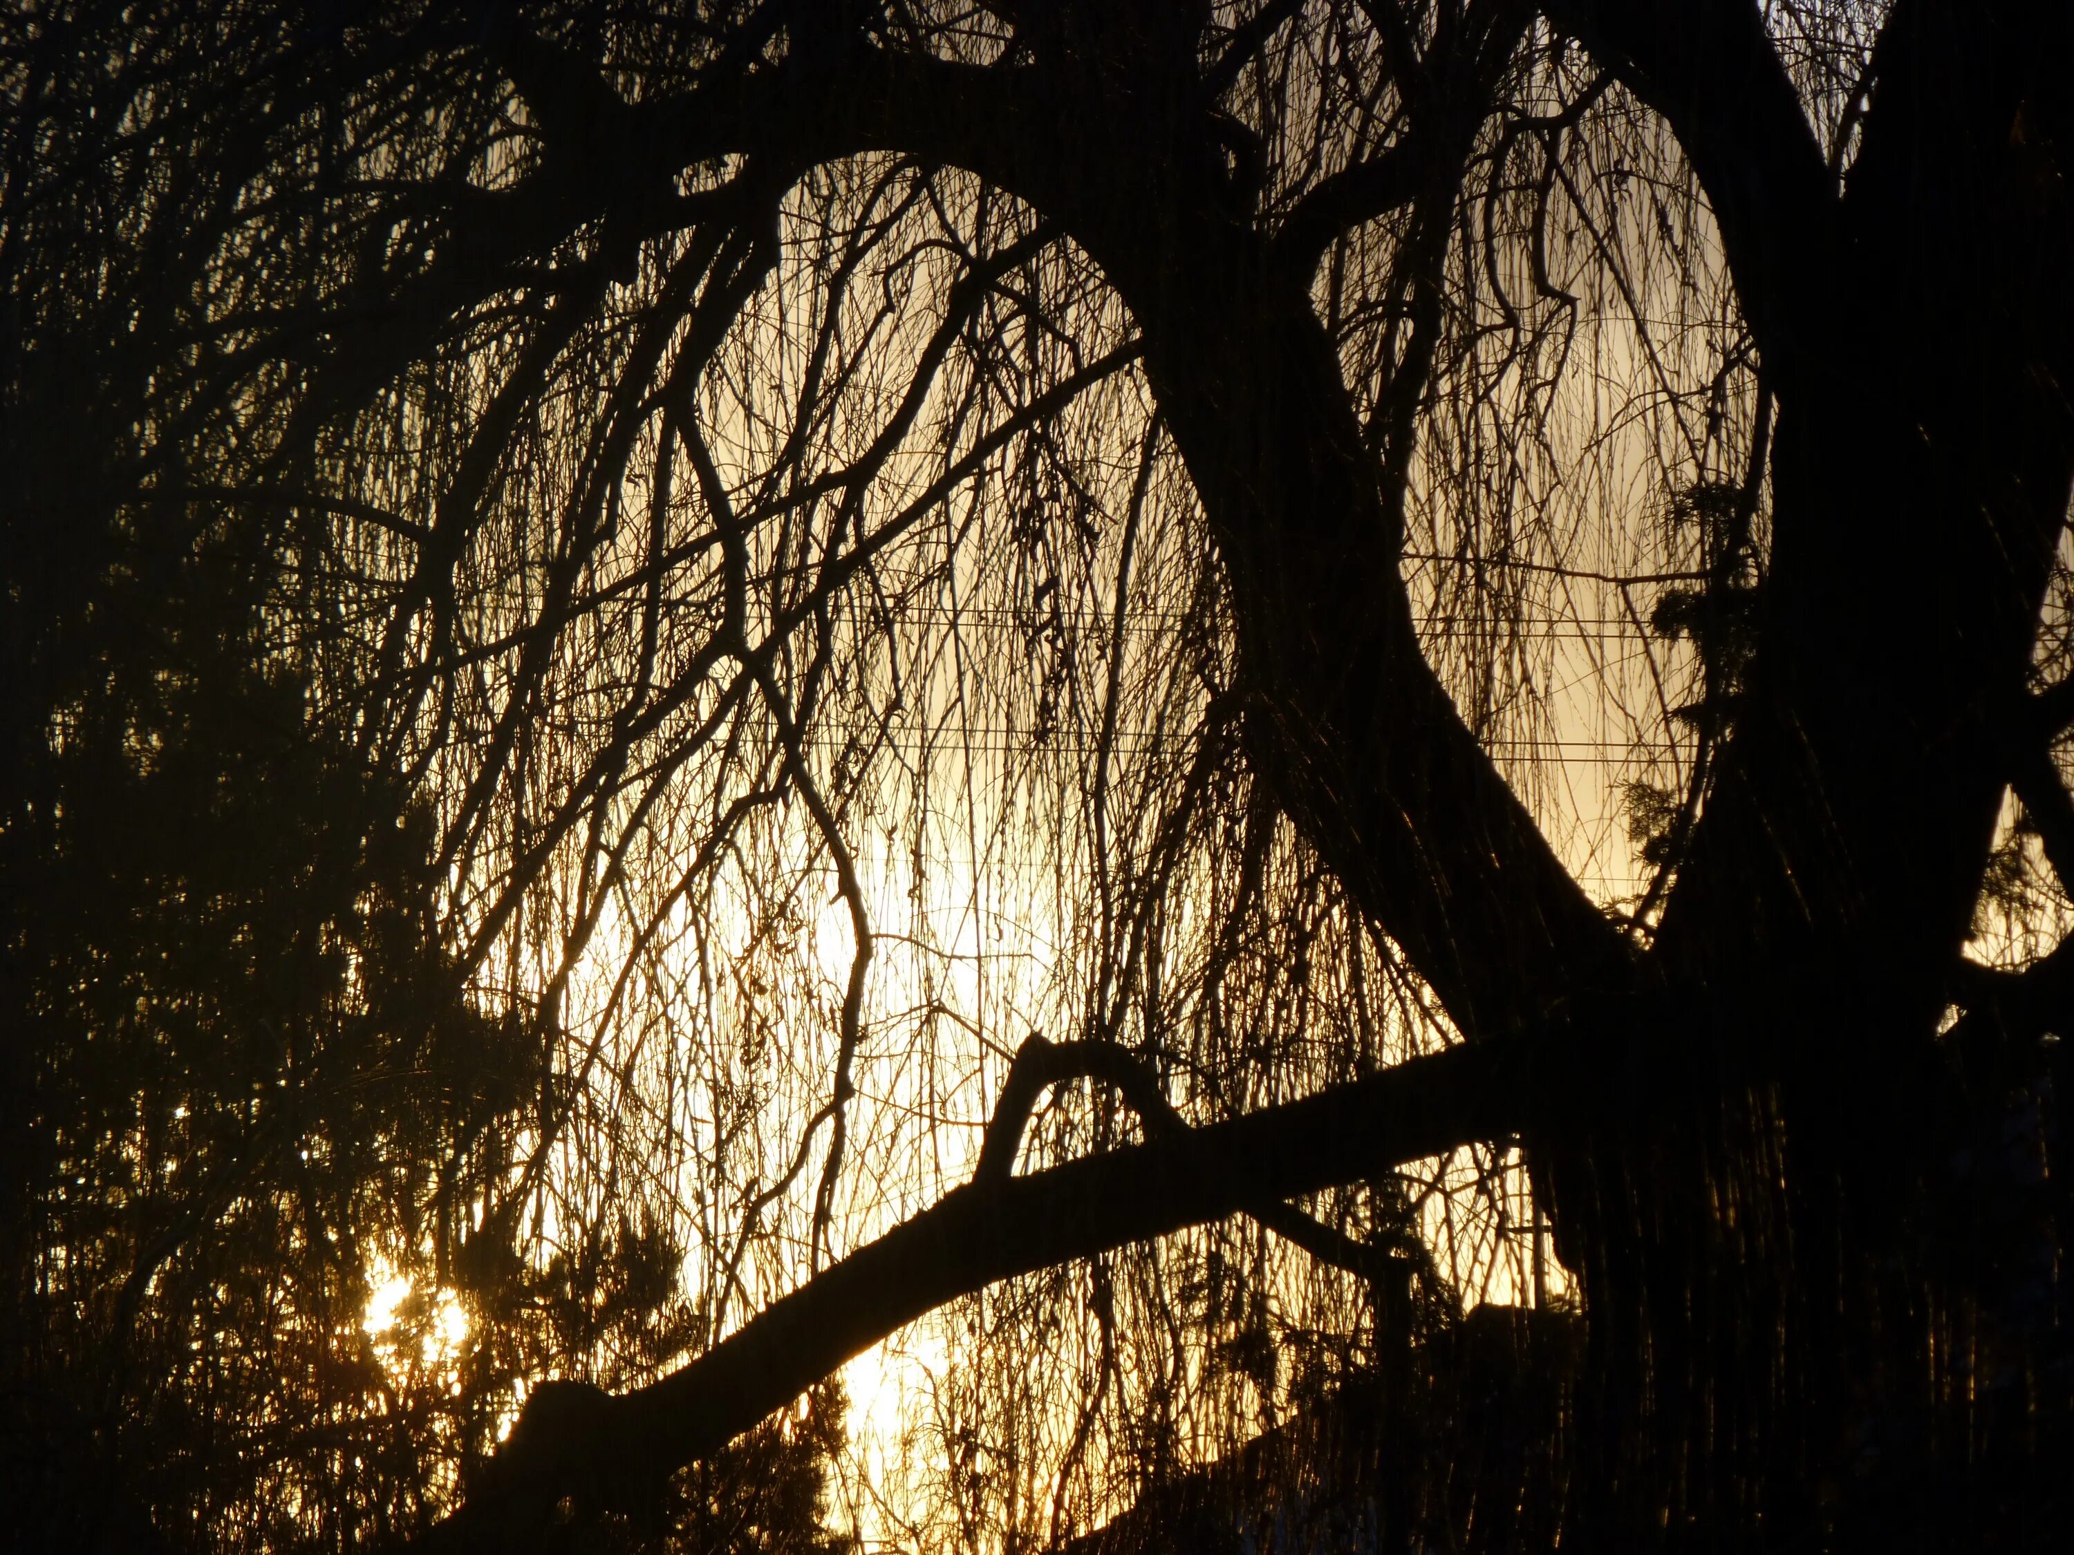
[[[1232,1122],[956,1188],[649,1387],[620,1397],[541,1389],[552,1408],[527,1410],[423,1545],[523,1549],[579,1507],[653,1505],[678,1468],[906,1323],[1000,1279],[1516,1134],[1531,1072],[1555,1051],[1537,1047],[1456,1047]]]

